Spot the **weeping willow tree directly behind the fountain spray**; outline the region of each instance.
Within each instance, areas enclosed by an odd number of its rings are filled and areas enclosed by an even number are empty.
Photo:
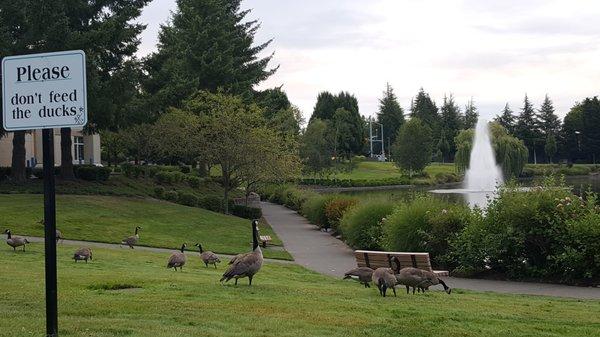
[[[508,134],[498,123],[490,123],[492,147],[496,162],[502,168],[505,178],[518,177],[527,163],[527,148],[523,141]],[[454,163],[459,172],[469,168],[471,148],[475,130],[463,130],[455,138],[456,156]]]

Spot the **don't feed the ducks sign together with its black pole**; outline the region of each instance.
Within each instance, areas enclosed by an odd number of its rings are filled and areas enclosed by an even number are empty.
[[[87,123],[83,51],[2,59],[2,121],[6,131],[42,129],[46,263],[46,336],[58,336],[54,128]]]

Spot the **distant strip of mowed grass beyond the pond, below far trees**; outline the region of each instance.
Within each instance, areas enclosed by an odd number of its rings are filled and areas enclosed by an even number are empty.
[[[437,173],[456,172],[454,164],[432,163],[425,168],[425,173],[435,176]],[[334,175],[338,179],[383,179],[399,178],[403,174],[400,169],[391,162],[363,161],[357,164],[352,172],[340,172]]]

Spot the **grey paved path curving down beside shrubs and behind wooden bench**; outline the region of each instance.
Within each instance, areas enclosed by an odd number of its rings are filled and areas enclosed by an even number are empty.
[[[333,236],[321,232],[305,218],[283,206],[262,202],[263,216],[284,242],[296,263],[334,277],[356,267],[352,249]],[[444,278],[450,287],[510,294],[546,295],[581,299],[600,299],[600,288],[558,284]]]

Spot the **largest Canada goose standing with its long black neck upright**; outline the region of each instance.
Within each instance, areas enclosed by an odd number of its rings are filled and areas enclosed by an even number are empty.
[[[248,285],[252,285],[252,278],[262,267],[263,256],[258,244],[258,220],[252,220],[252,252],[236,255],[229,261],[229,267],[221,277],[221,283],[235,278],[235,284],[241,277],[248,277]]]

